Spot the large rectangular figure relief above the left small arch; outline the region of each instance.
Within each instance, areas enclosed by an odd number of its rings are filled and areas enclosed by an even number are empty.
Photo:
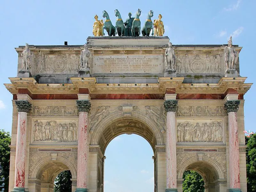
[[[77,141],[77,120],[34,120],[33,141]]]

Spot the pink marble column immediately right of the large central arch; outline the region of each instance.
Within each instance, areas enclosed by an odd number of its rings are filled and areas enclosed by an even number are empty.
[[[165,100],[166,111],[166,189],[165,192],[177,190],[176,163],[176,118],[177,100]]]

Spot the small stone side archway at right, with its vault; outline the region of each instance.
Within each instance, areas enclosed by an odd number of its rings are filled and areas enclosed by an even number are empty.
[[[177,180],[183,180],[184,171],[196,171],[204,179],[205,192],[224,192],[226,191],[227,180],[221,166],[212,158],[204,156],[203,159],[198,159],[197,156],[189,158],[185,161],[178,173]],[[224,187],[223,187],[224,186]],[[182,191],[182,184],[178,187]]]

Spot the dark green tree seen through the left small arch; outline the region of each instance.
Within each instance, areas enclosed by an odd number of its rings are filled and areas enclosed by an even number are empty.
[[[71,172],[63,171],[54,180],[54,192],[71,192],[72,190]]]

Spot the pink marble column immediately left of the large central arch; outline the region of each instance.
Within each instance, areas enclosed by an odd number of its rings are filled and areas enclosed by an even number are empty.
[[[87,160],[89,146],[87,139],[88,112],[91,109],[89,100],[77,100],[79,111],[78,146],[77,146],[77,184],[76,192],[87,192]]]

